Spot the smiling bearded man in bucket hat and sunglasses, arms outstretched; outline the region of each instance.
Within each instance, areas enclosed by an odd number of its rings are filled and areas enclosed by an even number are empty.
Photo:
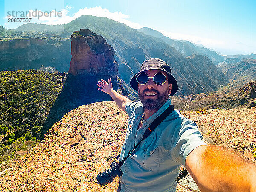
[[[178,85],[165,61],[144,61],[130,85],[140,101],[131,102],[113,90],[111,79],[98,81],[98,90],[130,117],[118,191],[175,192],[181,165],[201,191],[256,191],[254,164],[227,149],[207,146],[195,122],[173,109],[169,96]]]

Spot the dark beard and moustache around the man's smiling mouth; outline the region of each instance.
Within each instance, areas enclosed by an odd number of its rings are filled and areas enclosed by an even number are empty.
[[[157,99],[144,99],[144,95],[145,95],[145,92],[148,91],[148,92],[155,92],[157,93]],[[166,90],[165,92],[163,93],[159,93],[159,91],[157,91],[156,89],[145,89],[143,91],[143,93],[140,93],[140,90],[139,90],[139,99],[140,101],[142,102],[143,104],[143,109],[147,109],[147,110],[158,110],[168,99],[168,90]]]

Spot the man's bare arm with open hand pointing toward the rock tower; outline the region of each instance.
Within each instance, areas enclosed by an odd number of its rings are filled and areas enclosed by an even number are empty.
[[[115,90],[113,90],[111,78],[108,79],[108,82],[101,79],[100,81],[98,81],[97,85],[98,85],[98,90],[101,90],[104,93],[109,94],[112,97],[112,99],[114,99],[114,101],[116,102],[116,105],[118,105],[119,108],[125,111],[125,104],[127,102],[130,102],[130,100],[127,97],[120,95]]]

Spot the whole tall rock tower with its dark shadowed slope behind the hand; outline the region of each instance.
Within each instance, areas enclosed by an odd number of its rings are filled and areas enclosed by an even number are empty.
[[[113,89],[128,96],[119,79],[114,49],[106,40],[88,29],[71,35],[70,69],[62,92],[44,122],[43,134],[65,113],[81,105],[110,101],[111,96],[98,90],[98,81],[111,78]]]

